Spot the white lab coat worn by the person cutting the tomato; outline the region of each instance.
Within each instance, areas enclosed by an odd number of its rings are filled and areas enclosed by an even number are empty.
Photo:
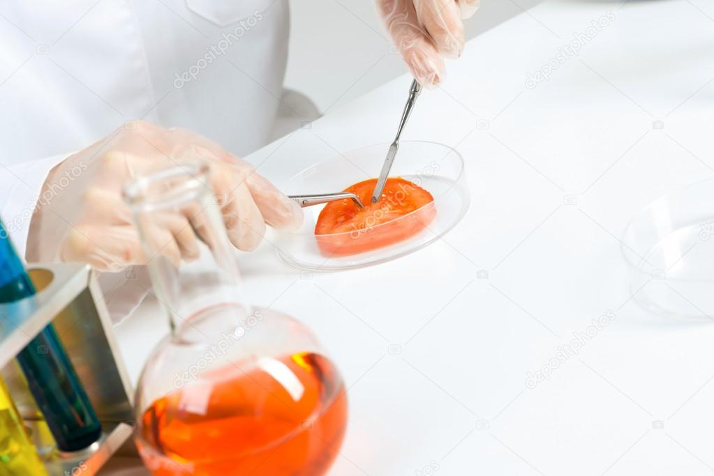
[[[288,20],[287,0],[3,2],[0,216],[18,252],[51,167],[128,120],[237,155],[266,143]]]

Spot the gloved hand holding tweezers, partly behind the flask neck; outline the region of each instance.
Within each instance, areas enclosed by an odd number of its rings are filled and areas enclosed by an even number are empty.
[[[300,207],[218,144],[190,130],[133,121],[51,170],[32,216],[27,260],[89,262],[99,271],[145,264],[122,188],[131,177],[196,155],[208,162],[228,238],[237,248],[258,246],[266,224],[300,226]],[[172,261],[191,259],[198,252],[188,222],[167,219],[155,225],[150,239],[165,241],[161,253]]]

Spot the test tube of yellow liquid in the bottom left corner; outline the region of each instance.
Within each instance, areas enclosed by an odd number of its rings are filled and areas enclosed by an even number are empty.
[[[0,476],[47,476],[5,382],[0,378]]]

